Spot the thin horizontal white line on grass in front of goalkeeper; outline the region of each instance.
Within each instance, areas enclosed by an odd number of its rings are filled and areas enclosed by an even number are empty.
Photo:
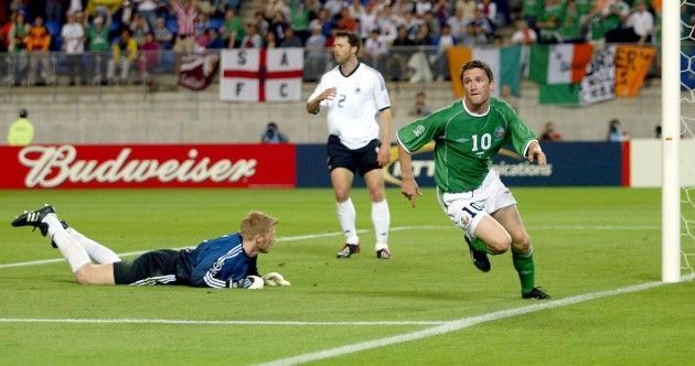
[[[167,324],[167,325],[301,325],[301,326],[404,326],[442,325],[446,321],[374,321],[374,322],[291,322],[291,321],[205,321],[174,319],[47,319],[0,317],[0,323],[61,323],[61,324]]]

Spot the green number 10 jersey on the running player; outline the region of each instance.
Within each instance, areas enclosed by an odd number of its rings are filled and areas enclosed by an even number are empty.
[[[490,97],[484,115],[468,111],[457,100],[398,130],[398,141],[415,152],[435,140],[435,181],[441,193],[469,192],[480,186],[503,146],[525,155],[535,134],[502,99]]]

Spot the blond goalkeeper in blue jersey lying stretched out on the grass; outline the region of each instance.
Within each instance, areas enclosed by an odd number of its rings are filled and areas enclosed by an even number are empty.
[[[256,259],[275,241],[278,220],[252,211],[242,220],[239,233],[205,240],[193,249],[147,251],[132,261],[121,261],[109,248],[87,238],[61,222],[53,206],[24,213],[12,226],[32,226],[51,236],[83,284],[184,284],[211,288],[263,289],[289,286],[280,273],[263,278]],[[96,263],[93,263],[96,262]]]

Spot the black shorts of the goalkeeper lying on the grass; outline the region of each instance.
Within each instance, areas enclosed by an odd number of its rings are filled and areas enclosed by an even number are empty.
[[[179,250],[148,251],[131,261],[114,263],[116,284],[189,284],[190,270]]]

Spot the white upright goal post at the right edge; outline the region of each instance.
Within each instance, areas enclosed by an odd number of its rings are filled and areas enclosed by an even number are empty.
[[[681,280],[681,1],[662,2],[662,266],[664,282]]]

